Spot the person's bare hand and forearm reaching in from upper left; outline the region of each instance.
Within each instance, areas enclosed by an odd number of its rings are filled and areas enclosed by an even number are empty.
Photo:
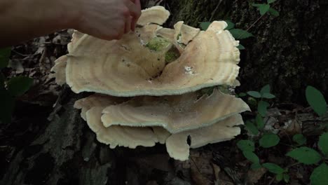
[[[140,9],[139,0],[0,0],[0,48],[68,28],[121,39]]]

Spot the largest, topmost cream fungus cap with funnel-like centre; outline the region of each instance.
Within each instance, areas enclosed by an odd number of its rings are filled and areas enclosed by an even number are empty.
[[[181,95],[214,85],[235,85],[240,60],[235,47],[238,41],[221,29],[226,22],[212,24],[183,51],[178,48],[182,53],[169,64],[165,64],[165,53],[147,48],[140,40],[142,28],[125,34],[120,41],[82,36],[67,55],[67,84],[75,93],[123,97]]]

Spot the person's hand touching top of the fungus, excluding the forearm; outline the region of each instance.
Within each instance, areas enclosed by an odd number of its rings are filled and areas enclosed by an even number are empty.
[[[73,28],[100,39],[121,39],[134,31],[141,15],[140,0],[77,0]]]

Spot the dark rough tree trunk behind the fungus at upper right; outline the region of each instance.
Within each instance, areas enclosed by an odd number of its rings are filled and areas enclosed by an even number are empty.
[[[231,20],[248,29],[261,15],[252,3],[266,1],[181,0],[167,1],[170,25],[178,20],[199,27],[199,22]],[[264,15],[242,40],[238,91],[259,90],[271,84],[279,102],[305,103],[306,85],[328,95],[328,1],[278,0],[280,15]],[[328,98],[328,97],[327,97]]]

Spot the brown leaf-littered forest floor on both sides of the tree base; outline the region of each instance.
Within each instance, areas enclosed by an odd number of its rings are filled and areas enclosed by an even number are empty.
[[[48,75],[55,59],[66,54],[70,35],[71,32],[65,30],[13,48],[11,69],[6,69],[4,74],[29,76],[34,78],[34,85],[17,101],[13,123],[0,125],[0,179],[15,154],[38,137],[40,130],[51,119],[53,104],[57,102],[63,88]],[[252,116],[252,113],[247,113],[244,119]],[[264,131],[277,133],[280,143],[268,149],[256,144],[254,153],[259,156],[260,163],[270,162],[288,167],[288,184],[309,184],[315,165],[301,165],[285,154],[295,148],[292,137],[296,134],[306,136],[304,146],[317,149],[316,143],[322,133],[324,120],[318,118],[311,109],[289,102],[271,103],[264,121]],[[275,174],[264,167],[250,170],[252,163],[237,146],[240,139],[257,141],[258,138],[242,127],[242,135],[236,139],[191,149],[190,159],[184,162],[170,159],[165,146],[160,144],[146,155],[140,154],[145,153],[143,147],[135,151],[128,150],[129,163],[125,171],[129,174],[125,175],[126,181],[130,181],[130,184],[134,184],[133,181],[142,184],[142,181],[148,185],[166,184],[165,181],[171,181],[171,184],[286,184],[283,180],[275,180]]]

